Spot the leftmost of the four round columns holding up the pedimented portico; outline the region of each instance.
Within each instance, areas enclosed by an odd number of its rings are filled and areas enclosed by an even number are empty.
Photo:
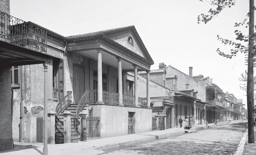
[[[98,49],[98,102],[97,103],[103,103],[102,100],[102,50]]]

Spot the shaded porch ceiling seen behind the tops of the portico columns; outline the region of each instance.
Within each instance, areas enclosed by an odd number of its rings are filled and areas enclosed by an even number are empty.
[[[96,61],[98,60],[97,50],[79,51],[76,53],[84,55],[85,57],[92,58]],[[109,53],[106,53],[106,52],[102,52],[102,63],[105,63],[105,64],[110,65],[115,68],[118,67],[117,58],[113,55],[110,55]],[[122,59],[122,70],[134,70],[134,66],[131,63],[127,62],[127,60]]]

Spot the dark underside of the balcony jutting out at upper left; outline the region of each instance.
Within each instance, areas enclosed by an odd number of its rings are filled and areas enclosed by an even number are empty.
[[[7,66],[32,65],[51,62],[55,57],[0,40],[0,63]]]

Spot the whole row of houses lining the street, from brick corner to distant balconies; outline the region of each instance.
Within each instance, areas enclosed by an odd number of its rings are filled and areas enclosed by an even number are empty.
[[[2,7],[0,150],[42,142],[38,135],[59,132],[56,124],[70,115],[99,118],[101,138],[152,131],[155,115],[166,115],[166,128],[187,116],[193,124],[241,119],[242,100],[212,78],[192,76],[192,67],[189,75],[164,63],[151,70],[134,26],[65,37],[10,16],[8,0]]]

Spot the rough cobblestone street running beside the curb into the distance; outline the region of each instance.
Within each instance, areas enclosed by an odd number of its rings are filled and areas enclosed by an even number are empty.
[[[177,137],[115,150],[107,155],[231,155],[236,152],[247,122],[231,122]]]

